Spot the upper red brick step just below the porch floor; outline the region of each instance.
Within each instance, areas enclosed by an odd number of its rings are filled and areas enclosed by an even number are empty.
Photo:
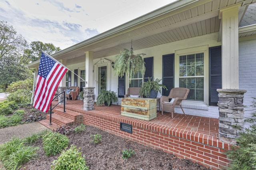
[[[65,118],[71,119],[77,124],[82,123],[83,115],[80,114],[80,113],[76,113],[76,112],[71,111],[71,110],[66,110],[66,112],[63,112],[62,108],[60,108],[60,109],[54,108],[53,112],[54,112],[54,114],[58,114],[58,115],[63,116]]]

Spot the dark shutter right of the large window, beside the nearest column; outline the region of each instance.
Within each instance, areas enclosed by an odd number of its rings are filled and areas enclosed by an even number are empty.
[[[222,88],[222,57],[221,46],[209,48],[209,105],[217,106],[218,92]]]

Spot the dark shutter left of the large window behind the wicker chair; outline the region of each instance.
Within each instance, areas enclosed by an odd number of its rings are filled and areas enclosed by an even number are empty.
[[[163,78],[162,81],[168,90],[162,89],[162,95],[168,96],[174,88],[174,54],[163,55]]]

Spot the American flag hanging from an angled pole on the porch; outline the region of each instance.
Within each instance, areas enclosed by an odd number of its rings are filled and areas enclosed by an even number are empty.
[[[34,108],[48,112],[54,94],[68,69],[45,52],[41,59],[36,80]]]

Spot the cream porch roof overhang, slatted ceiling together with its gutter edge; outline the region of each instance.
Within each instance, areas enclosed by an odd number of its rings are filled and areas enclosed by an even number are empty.
[[[186,4],[184,4],[184,2]],[[220,31],[219,10],[242,3],[242,20],[247,4],[256,0],[180,0],[136,18],[121,26],[64,49],[52,56],[67,65],[85,61],[85,52],[94,59],[119,54],[124,48],[139,50]],[[254,29],[255,30],[255,29]],[[239,36],[256,34],[243,32]]]

